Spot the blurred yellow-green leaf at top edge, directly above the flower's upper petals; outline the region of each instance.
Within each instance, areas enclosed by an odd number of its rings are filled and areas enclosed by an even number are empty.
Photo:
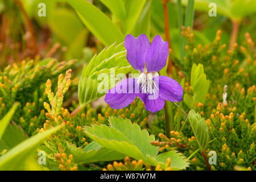
[[[123,20],[123,33],[125,35],[130,34],[133,30],[135,23],[141,14],[142,8],[146,0],[123,0],[126,7],[126,18]]]

